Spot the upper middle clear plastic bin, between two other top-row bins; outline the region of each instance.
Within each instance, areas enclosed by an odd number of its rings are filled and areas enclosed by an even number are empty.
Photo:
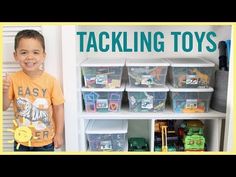
[[[131,87],[163,87],[169,63],[164,59],[127,59]]]

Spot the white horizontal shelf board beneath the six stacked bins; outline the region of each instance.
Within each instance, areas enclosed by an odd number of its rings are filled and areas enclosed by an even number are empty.
[[[207,113],[174,113],[171,108],[157,113],[129,112],[123,108],[120,112],[112,113],[87,113],[79,114],[83,119],[225,119],[226,114],[210,109]]]

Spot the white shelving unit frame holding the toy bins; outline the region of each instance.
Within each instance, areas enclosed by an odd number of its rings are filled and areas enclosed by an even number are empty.
[[[227,147],[222,149],[224,139],[222,132],[225,134],[224,122],[232,118],[226,116],[228,114],[217,112],[210,109],[208,113],[174,113],[170,107],[167,107],[164,112],[160,113],[131,113],[128,107],[122,105],[121,111],[117,113],[87,113],[83,110],[83,100],[81,88],[83,81],[81,77],[80,63],[86,58],[161,58],[161,57],[205,57],[212,62],[218,63],[218,51],[209,54],[203,51],[202,53],[193,51],[190,53],[179,52],[175,53],[166,49],[164,53],[119,53],[119,52],[84,52],[78,51],[79,42],[76,36],[77,31],[94,31],[95,34],[99,31],[164,31],[165,34],[175,31],[215,31],[219,34],[216,41],[229,39],[231,35],[230,26],[63,26],[62,27],[62,58],[63,58],[63,82],[64,94],[67,104],[65,104],[65,136],[66,136],[66,151],[86,151],[88,149],[85,129],[91,119],[125,119],[129,120],[128,136],[143,136],[149,140],[150,152],[154,151],[154,124],[155,120],[163,119],[200,119],[206,126],[206,134],[208,139],[209,151],[227,151]],[[166,35],[167,36],[167,35]],[[131,39],[129,39],[131,40]],[[170,43],[170,38],[167,37],[167,44]],[[168,54],[168,56],[165,56]],[[70,79],[68,79],[70,78]],[[72,96],[73,95],[73,96]],[[76,95],[76,96],[75,96]],[[229,102],[230,103],[230,102]],[[229,139],[229,137],[227,137]]]

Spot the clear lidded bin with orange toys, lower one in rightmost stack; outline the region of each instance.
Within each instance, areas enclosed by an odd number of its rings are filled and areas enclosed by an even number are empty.
[[[175,113],[208,112],[213,88],[170,88],[172,109]]]

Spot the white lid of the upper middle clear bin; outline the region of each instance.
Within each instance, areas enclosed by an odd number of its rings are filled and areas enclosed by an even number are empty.
[[[152,59],[127,59],[126,66],[169,66],[170,64],[163,58]]]

